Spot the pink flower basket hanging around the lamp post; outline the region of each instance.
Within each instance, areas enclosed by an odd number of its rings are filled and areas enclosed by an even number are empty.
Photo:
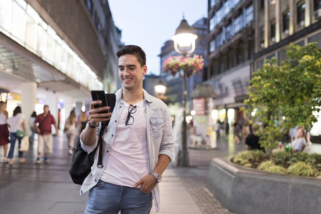
[[[163,63],[163,72],[170,72],[173,76],[181,69],[186,72],[187,77],[199,74],[204,67],[203,56],[195,54],[193,57],[169,56]]]

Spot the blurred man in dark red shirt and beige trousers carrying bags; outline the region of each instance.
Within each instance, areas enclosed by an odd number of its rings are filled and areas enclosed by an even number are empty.
[[[37,125],[38,123],[38,125]],[[37,159],[36,164],[41,164],[41,153],[45,146],[45,163],[49,163],[48,153],[52,153],[52,135],[51,135],[51,124],[56,129],[58,134],[58,127],[54,117],[49,112],[49,106],[44,106],[44,113],[36,116],[34,120],[34,128],[38,133],[38,148],[37,148]]]

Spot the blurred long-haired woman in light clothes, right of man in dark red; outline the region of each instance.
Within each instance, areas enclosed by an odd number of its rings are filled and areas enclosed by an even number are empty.
[[[77,126],[76,113],[74,110],[71,110],[69,117],[66,120],[65,128],[64,128],[64,133],[66,133],[67,139],[68,139],[69,154],[72,154],[72,150],[70,149],[70,147],[72,148],[74,147],[74,142],[76,138],[76,126]]]

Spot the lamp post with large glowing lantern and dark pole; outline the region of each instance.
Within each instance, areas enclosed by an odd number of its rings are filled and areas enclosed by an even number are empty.
[[[197,35],[194,33],[194,29],[189,26],[183,16],[183,20],[176,29],[175,35],[172,37],[174,41],[174,48],[177,53],[183,54],[186,57],[188,54],[195,50],[195,40]],[[186,123],[186,100],[187,100],[187,71],[183,70],[183,136],[182,136],[182,150],[179,154],[178,165],[183,167],[189,166],[188,150],[187,150],[187,123]]]

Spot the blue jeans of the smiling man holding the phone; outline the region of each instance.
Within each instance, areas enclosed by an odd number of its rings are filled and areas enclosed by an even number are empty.
[[[99,180],[89,190],[85,214],[148,214],[152,208],[151,192],[118,186]]]

